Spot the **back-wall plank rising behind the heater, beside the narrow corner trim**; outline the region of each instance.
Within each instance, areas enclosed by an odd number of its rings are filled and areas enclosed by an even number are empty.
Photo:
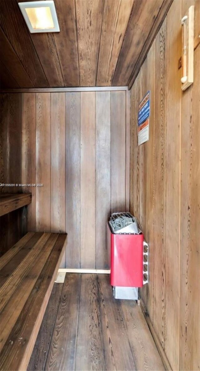
[[[111,212],[125,211],[126,93],[111,92]]]

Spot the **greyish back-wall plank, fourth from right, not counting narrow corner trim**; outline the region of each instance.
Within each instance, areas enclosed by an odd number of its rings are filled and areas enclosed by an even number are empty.
[[[66,267],[81,267],[80,130],[81,93],[66,93]]]

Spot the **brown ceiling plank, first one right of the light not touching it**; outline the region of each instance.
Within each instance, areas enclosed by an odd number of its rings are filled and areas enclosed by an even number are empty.
[[[104,0],[75,0],[75,3],[80,85],[94,86],[96,83]]]

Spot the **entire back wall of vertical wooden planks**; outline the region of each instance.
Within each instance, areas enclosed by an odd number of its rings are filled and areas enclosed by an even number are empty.
[[[113,191],[116,191],[113,204],[117,209],[125,210],[129,188],[126,184],[129,174],[126,103],[126,91],[114,92],[112,104],[110,91],[2,95],[1,162],[5,163],[2,176],[8,168],[9,174],[24,185],[22,191],[32,192],[28,216],[26,212],[19,214],[16,221],[16,215],[13,214],[12,220],[9,216],[9,225],[13,225],[9,243],[13,236],[18,238],[18,229],[24,233],[22,222],[27,219],[28,230],[68,233],[63,266],[109,268],[106,222],[111,211],[111,146],[112,176],[117,186],[115,189],[113,183]],[[9,146],[14,143],[10,157],[7,156],[7,130]],[[13,158],[16,172],[11,167]],[[9,167],[7,159],[10,159]],[[4,178],[7,180],[6,173]],[[26,185],[29,183],[42,183],[43,187],[29,187]],[[6,251],[7,219],[1,219],[1,228],[1,242]]]

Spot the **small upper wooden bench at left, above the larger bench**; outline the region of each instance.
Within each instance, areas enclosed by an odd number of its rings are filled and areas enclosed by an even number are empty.
[[[0,216],[31,203],[31,193],[0,193]]]

